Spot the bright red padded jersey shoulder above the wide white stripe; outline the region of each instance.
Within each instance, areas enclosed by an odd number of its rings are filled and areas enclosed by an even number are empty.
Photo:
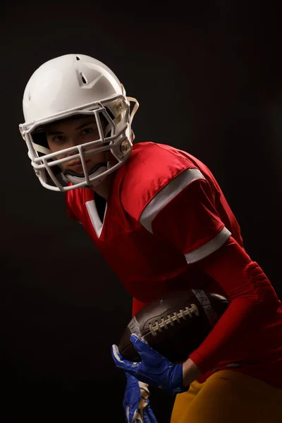
[[[138,143],[123,169],[121,202],[125,211],[139,220],[159,192],[170,196],[198,178],[204,175],[190,154],[169,145]]]

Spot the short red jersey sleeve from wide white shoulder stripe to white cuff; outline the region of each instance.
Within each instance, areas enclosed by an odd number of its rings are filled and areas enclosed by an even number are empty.
[[[197,168],[187,168],[159,191],[140,223],[173,243],[188,264],[212,254],[231,236],[216,211],[213,187]]]

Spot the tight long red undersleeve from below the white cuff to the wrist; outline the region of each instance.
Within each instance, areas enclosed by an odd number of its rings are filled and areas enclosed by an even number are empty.
[[[200,265],[223,288],[229,301],[221,319],[190,354],[190,359],[205,374],[226,357],[240,362],[242,351],[244,356],[254,350],[254,342],[262,350],[259,338],[254,340],[250,334],[269,325],[281,302],[264,271],[232,237]]]

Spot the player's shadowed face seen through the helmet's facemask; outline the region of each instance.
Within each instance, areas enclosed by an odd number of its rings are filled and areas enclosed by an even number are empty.
[[[104,128],[103,128],[104,130]],[[83,116],[82,118],[68,119],[66,121],[51,123],[46,131],[47,142],[51,152],[60,152],[62,149],[75,147],[86,142],[99,140],[99,130],[94,116]],[[94,147],[86,147],[93,149]],[[78,152],[69,152],[58,154],[56,159],[73,156]],[[85,156],[87,171],[90,171],[96,164],[106,161],[105,152],[97,154],[89,154]],[[80,159],[69,160],[61,163],[63,170],[72,170],[75,173],[83,173],[82,163]]]

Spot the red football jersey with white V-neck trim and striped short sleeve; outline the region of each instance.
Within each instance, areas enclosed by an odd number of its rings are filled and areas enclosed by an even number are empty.
[[[214,204],[200,227],[194,207],[198,200],[193,199],[197,192],[191,190],[195,184]],[[159,224],[158,214],[183,192],[188,192],[190,202],[182,205],[185,221],[178,221],[176,210],[169,221],[160,219],[164,234],[155,235],[152,227]],[[93,190],[68,191],[66,200],[68,214],[82,223],[125,288],[141,302],[156,298],[171,282],[174,288],[187,281],[189,263],[214,252],[231,233],[242,243],[238,223],[209,169],[190,154],[166,145],[133,146],[130,158],[116,172],[103,222]]]

